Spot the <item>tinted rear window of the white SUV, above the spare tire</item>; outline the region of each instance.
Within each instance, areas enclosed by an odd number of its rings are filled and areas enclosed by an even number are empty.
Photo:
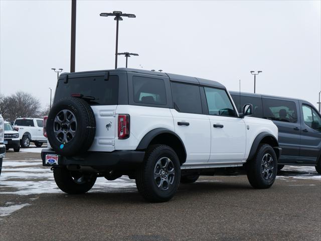
[[[104,76],[70,78],[67,83],[58,81],[55,103],[72,94],[82,94],[90,98],[90,105],[114,105],[118,103],[118,76],[111,75],[104,80]]]

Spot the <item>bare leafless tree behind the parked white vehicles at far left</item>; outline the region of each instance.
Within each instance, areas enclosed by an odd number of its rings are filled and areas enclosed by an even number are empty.
[[[37,117],[40,114],[40,101],[29,93],[18,91],[11,96],[0,97],[0,111],[9,121],[18,117]]]

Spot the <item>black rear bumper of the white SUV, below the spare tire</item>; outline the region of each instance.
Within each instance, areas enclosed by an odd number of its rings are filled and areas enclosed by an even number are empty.
[[[46,154],[56,154],[52,149],[42,149],[41,159],[46,164]],[[58,166],[92,167],[97,170],[130,170],[138,167],[143,159],[144,151],[113,151],[113,152],[86,152],[75,157],[58,155]]]

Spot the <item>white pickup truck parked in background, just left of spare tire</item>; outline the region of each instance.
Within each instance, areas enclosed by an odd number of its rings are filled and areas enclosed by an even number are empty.
[[[14,128],[19,132],[22,148],[28,148],[31,142],[35,143],[36,147],[47,143],[47,138],[43,135],[44,122],[41,118],[17,118]]]

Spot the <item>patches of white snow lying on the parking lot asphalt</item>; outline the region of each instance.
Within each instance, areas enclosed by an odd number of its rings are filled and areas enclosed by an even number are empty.
[[[33,148],[41,152],[42,148]],[[27,150],[33,150],[27,149]],[[39,151],[40,150],[40,151]],[[278,172],[277,179],[295,182],[294,179],[317,179],[321,180],[314,167],[285,166]],[[198,181],[203,182],[203,181]],[[208,181],[206,181],[208,182]],[[213,181],[215,182],[215,181]],[[314,185],[314,184],[311,184]],[[114,181],[108,181],[103,177],[97,178],[93,188],[89,192],[135,192],[137,191],[134,180],[123,176]],[[42,166],[40,159],[24,161],[4,160],[0,176],[0,195],[16,194],[30,195],[41,193],[63,193],[56,185],[53,172],[48,167]],[[0,216],[10,215],[12,212],[31,205],[30,203],[6,203],[0,207]]]

